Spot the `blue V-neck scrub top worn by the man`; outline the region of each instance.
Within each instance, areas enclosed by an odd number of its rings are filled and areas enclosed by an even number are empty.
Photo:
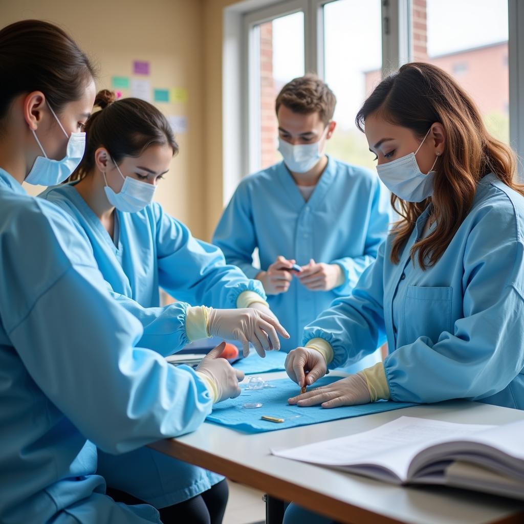
[[[263,270],[279,255],[296,259],[300,266],[311,258],[341,266],[345,282],[331,291],[310,291],[293,278],[286,293],[268,297],[271,310],[291,335],[282,342],[289,352],[300,344],[304,326],[335,298],[350,294],[375,260],[388,230],[389,209],[389,192],[368,169],[329,157],[305,202],[280,162],[242,180],[212,242],[249,278],[260,271],[253,265],[255,248]]]

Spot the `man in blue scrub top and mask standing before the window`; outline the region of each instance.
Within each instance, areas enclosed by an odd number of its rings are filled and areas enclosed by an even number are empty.
[[[287,352],[300,344],[305,325],[351,293],[388,229],[389,193],[376,173],[324,154],[335,102],[311,74],[282,88],[276,113],[283,161],[242,180],[213,236],[228,263],[263,283],[291,335],[282,343]]]

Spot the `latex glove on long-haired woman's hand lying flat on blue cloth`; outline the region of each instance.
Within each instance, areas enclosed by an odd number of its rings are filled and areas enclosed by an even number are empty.
[[[350,375],[337,380],[329,386],[312,389],[303,395],[297,395],[288,400],[292,405],[300,407],[316,406],[337,408],[339,406],[355,406],[371,402],[366,379],[360,374]]]

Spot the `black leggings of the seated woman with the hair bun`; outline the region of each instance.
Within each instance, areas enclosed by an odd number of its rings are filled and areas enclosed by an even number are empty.
[[[147,504],[128,493],[118,489],[107,488],[107,495],[130,506],[134,504]],[[215,484],[207,491],[196,497],[184,500],[173,506],[159,509],[160,520],[163,524],[191,522],[191,524],[221,524],[227,504],[229,489],[225,479]]]

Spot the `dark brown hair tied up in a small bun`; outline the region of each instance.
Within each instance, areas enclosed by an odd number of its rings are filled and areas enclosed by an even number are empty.
[[[100,110],[85,123],[84,157],[69,182],[93,170],[99,147],[105,147],[116,163],[124,157],[138,157],[152,145],[168,145],[173,155],[178,153],[167,118],[149,102],[136,98],[115,101],[114,93],[104,89],[96,95],[94,105]]]

